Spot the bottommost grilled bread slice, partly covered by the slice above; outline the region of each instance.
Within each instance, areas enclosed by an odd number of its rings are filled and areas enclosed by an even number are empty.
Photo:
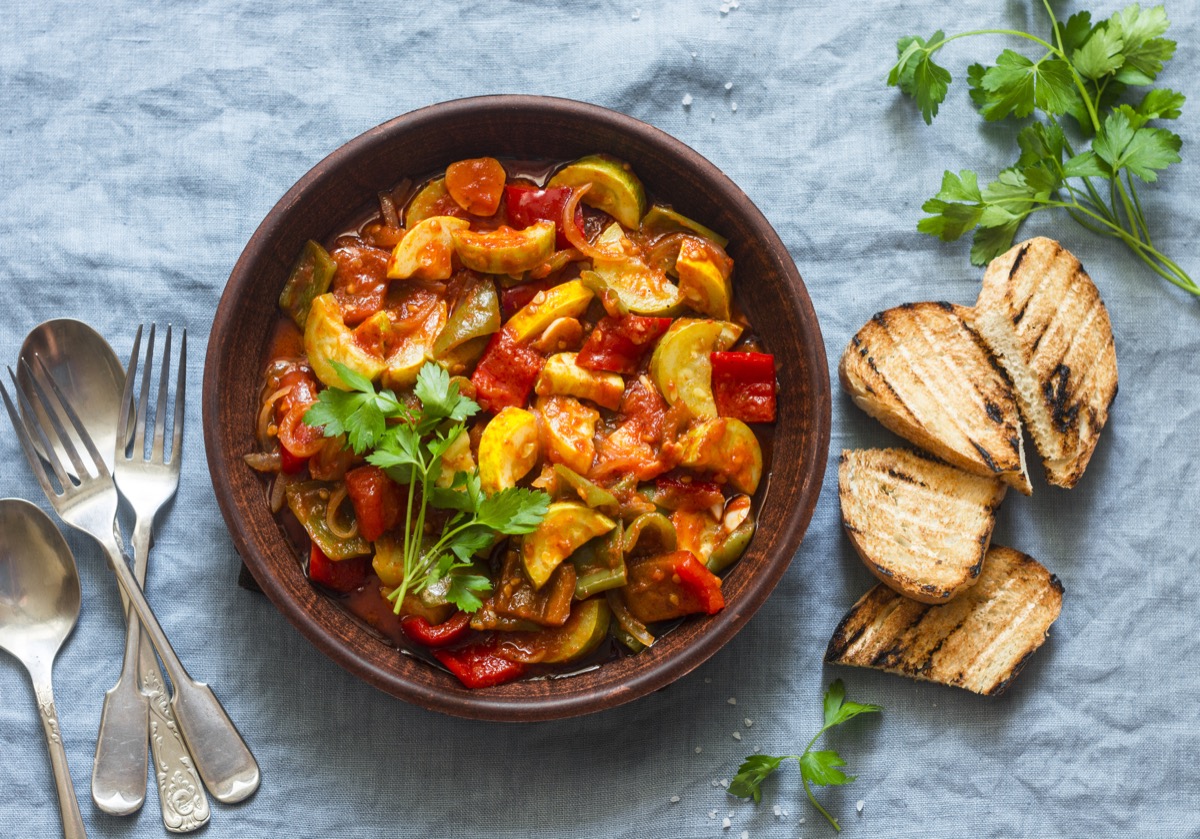
[[[1062,611],[1062,583],[1032,557],[992,545],[974,586],[929,606],[876,586],[838,624],[826,661],[977,694],[1003,693]]]

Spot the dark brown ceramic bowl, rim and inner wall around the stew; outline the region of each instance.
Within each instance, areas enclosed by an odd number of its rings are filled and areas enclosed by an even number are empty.
[[[758,532],[725,579],[726,607],[694,617],[650,649],[569,678],[467,690],[400,654],[313,588],[242,462],[256,447],[259,377],[276,300],[307,239],[362,217],[377,191],[466,157],[629,161],[652,196],[722,232],[736,295],[779,367],[779,419]],[[829,444],[829,376],[821,330],[787,248],[742,190],[683,143],[593,104],[488,96],[436,104],[372,128],[318,163],[270,211],[226,286],[204,365],[204,439],[212,486],[238,552],[275,606],[318,649],[380,690],[448,714],[542,720],[610,708],[662,688],[733,637],[787,570],[812,516]]]

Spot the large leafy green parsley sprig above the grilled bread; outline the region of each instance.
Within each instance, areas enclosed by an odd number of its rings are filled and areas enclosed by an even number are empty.
[[[986,186],[979,186],[974,172],[946,172],[942,188],[922,206],[930,215],[917,229],[943,241],[974,230],[971,260],[982,265],[1012,246],[1030,215],[1061,208],[1088,230],[1123,241],[1159,276],[1200,295],[1187,271],[1154,246],[1136,186],[1136,180],[1154,182],[1159,172],[1180,162],[1180,137],[1150,122],[1178,119],[1183,94],[1153,88],[1140,100],[1129,95],[1152,84],[1175,54],[1175,42],[1163,37],[1166,12],[1133,4],[1096,24],[1090,12],[1062,23],[1048,0],[1043,6],[1051,24],[1046,38],[1012,29],[949,37],[938,30],[928,40],[908,36],[896,43],[888,84],[916,100],[926,124],[952,80],[934,61],[948,43],[1008,35],[1040,47],[1036,58],[1006,49],[990,67],[968,67],[971,98],[985,120],[1021,120],[1034,112],[1044,119],[1021,128],[1016,163]],[[1091,148],[1076,152],[1072,136],[1076,142],[1090,138]]]

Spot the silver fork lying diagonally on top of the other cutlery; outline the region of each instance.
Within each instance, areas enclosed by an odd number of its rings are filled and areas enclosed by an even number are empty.
[[[221,707],[212,689],[187,675],[187,670],[184,669],[184,664],[162,631],[154,610],[150,609],[145,595],[142,594],[133,571],[130,570],[116,543],[116,485],[91,442],[91,437],[88,436],[88,431],[83,427],[54,377],[40,358],[37,362],[37,370],[30,370],[26,366],[26,372],[34,384],[32,398],[41,403],[49,419],[50,429],[43,427],[32,419],[37,414],[29,401],[30,396],[26,396],[17,384],[17,377],[13,376],[11,367],[8,368],[8,378],[12,380],[17,398],[25,408],[25,419],[22,419],[8,397],[7,390],[0,384],[0,395],[4,396],[5,408],[7,408],[8,418],[17,431],[25,459],[59,517],[67,525],[92,537],[104,550],[109,568],[116,575],[118,583],[130,599],[133,611],[137,612],[143,629],[150,636],[155,649],[158,651],[163,667],[170,677],[174,687],[170,707],[175,712],[184,741],[192,753],[204,785],[218,801],[242,801],[258,789],[260,780],[258,763],[241,735],[238,733],[229,715]],[[54,398],[47,392],[48,390],[53,391]],[[84,459],[67,435],[62,418],[72,425],[76,437],[86,449],[88,465],[84,463]],[[74,480],[67,474],[61,460],[55,454],[56,449],[49,439],[50,433],[58,438],[61,450],[66,453],[74,467],[77,475]],[[47,466],[44,467],[34,449],[35,437],[42,443],[42,450],[47,453]]]

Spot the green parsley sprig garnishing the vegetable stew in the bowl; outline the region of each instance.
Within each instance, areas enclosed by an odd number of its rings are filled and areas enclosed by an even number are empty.
[[[438,486],[443,456],[466,433],[466,421],[479,413],[479,406],[463,396],[437,364],[426,364],[416,376],[413,395],[420,400],[420,410],[391,390],[376,390],[370,379],[342,364],[335,361],[334,368],[350,390],[325,388],[304,421],[320,427],[326,437],[344,433],[355,454],[368,453],[368,463],[408,486],[401,544],[403,579],[389,594],[396,612],[406,594],[420,593],[442,580],[450,603],[466,612],[476,611],[491,582],[464,573],[473,567],[473,557],[491,547],[497,534],[534,531],[546,515],[550,497],[516,487],[485,495],[479,469],[457,472],[448,487]],[[425,533],[430,507],[454,511],[437,538]]]

